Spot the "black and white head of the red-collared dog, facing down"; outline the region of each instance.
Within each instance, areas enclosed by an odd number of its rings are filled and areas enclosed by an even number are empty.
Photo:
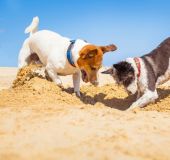
[[[119,62],[102,73],[112,75],[116,83],[120,85],[122,84],[128,93],[136,93],[137,83],[135,70],[130,63],[126,61]]]

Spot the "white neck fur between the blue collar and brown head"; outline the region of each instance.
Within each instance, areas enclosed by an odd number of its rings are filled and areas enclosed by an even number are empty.
[[[72,58],[73,58],[75,66],[77,68],[79,68],[78,64],[77,64],[77,60],[80,57],[79,53],[80,53],[81,49],[88,44],[89,43],[85,42],[84,40],[77,39],[73,48],[72,48],[72,56],[73,56]]]

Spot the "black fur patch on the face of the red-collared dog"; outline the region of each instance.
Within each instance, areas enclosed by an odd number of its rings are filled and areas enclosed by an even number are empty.
[[[130,63],[126,61],[114,64],[113,67],[116,69],[117,83],[122,83],[125,87],[135,79],[135,71]]]

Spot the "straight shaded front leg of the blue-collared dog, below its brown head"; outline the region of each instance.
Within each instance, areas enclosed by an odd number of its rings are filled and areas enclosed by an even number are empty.
[[[74,86],[74,92],[76,93],[76,96],[80,97],[80,72],[76,72],[73,74],[73,86]]]

